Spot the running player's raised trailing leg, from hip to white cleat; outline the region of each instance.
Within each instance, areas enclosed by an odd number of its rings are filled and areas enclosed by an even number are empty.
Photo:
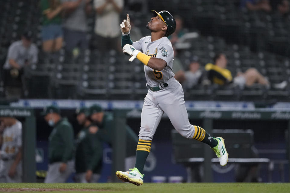
[[[225,166],[228,154],[224,147],[224,139],[213,138],[203,128],[191,125],[188,121],[188,114],[184,105],[184,94],[182,86],[173,82],[168,89],[160,92],[157,96],[159,105],[169,117],[174,128],[185,138],[195,139],[211,146],[219,158],[220,164]]]

